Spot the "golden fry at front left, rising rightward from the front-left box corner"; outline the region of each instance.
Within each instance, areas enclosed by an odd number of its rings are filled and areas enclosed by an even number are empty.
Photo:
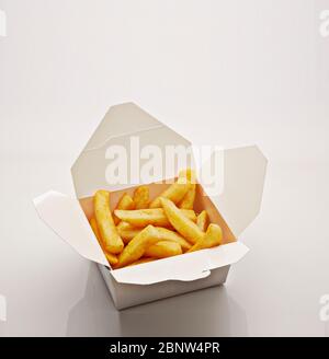
[[[152,225],[147,225],[123,250],[118,256],[116,268],[122,268],[143,257],[147,247],[159,242],[158,231]]]

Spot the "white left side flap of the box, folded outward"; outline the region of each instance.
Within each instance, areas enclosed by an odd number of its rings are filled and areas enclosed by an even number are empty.
[[[77,199],[47,192],[34,199],[41,219],[87,259],[109,265]]]

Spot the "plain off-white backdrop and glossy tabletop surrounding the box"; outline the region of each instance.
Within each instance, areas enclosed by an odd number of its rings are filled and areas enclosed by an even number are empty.
[[[328,336],[328,1],[0,8],[0,335]],[[117,312],[97,267],[38,219],[32,198],[73,194],[71,163],[124,101],[193,142],[256,142],[269,159],[251,251],[225,287]]]

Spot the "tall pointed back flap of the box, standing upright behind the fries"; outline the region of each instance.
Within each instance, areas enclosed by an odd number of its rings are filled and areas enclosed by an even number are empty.
[[[174,146],[191,151],[188,164],[193,167],[190,141],[133,103],[112,106],[71,169],[77,197],[92,196],[100,188],[118,190],[175,177],[179,164],[166,162],[164,157],[166,149]],[[149,181],[146,164],[152,161],[156,172]],[[120,173],[113,175],[115,165]]]

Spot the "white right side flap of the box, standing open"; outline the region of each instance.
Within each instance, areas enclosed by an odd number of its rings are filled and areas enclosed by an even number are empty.
[[[268,160],[257,146],[226,149],[218,158],[224,165],[223,192],[211,198],[238,236],[260,211]]]

